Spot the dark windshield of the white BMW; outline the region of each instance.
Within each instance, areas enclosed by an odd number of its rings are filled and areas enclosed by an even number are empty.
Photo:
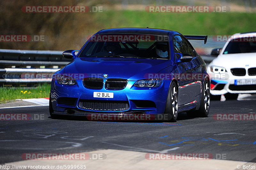
[[[256,37],[253,38],[255,40]],[[250,39],[249,39],[250,40]],[[256,52],[256,42],[248,41],[248,38],[236,38],[232,39],[223,54],[235,54],[235,53],[251,53]]]

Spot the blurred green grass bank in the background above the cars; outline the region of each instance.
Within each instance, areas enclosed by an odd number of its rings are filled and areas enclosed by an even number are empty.
[[[255,13],[148,13],[145,11],[104,11],[94,13],[93,25],[102,29],[149,27],[178,31],[184,35],[230,35],[255,31]]]

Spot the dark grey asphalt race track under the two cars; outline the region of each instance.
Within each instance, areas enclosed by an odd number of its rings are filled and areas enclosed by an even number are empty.
[[[211,101],[207,118],[180,113],[177,122],[51,119],[47,106],[6,108],[41,120],[2,120],[0,164],[23,160],[23,153],[78,153],[101,149],[150,153],[211,153],[214,158],[256,162],[254,120],[214,120],[213,114],[256,113],[255,98]],[[221,156],[220,156],[221,155]]]

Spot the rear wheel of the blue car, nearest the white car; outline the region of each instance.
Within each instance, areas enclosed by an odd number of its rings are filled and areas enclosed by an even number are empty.
[[[210,81],[205,80],[202,89],[201,103],[198,110],[188,111],[187,115],[198,116],[198,117],[207,117],[210,111]]]

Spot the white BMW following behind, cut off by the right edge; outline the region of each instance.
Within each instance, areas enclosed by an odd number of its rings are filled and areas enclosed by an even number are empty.
[[[212,53],[214,50],[212,51]],[[256,93],[256,32],[230,36],[219,56],[207,68],[211,99],[236,99],[239,93]]]

